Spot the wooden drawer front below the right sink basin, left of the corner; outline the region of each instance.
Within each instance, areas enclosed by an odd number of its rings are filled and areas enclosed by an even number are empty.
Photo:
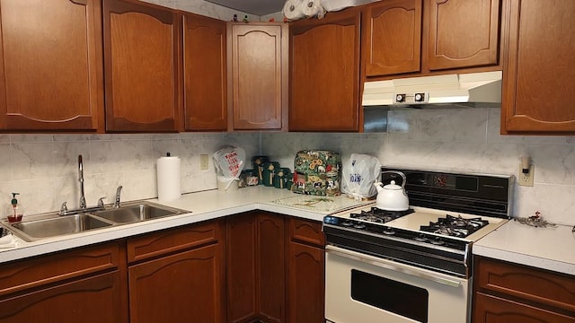
[[[215,243],[221,239],[222,232],[222,223],[210,222],[130,239],[128,240],[128,262]]]

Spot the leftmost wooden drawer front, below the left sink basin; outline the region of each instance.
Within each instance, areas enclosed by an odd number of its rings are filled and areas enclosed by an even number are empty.
[[[0,267],[0,295],[115,268],[118,265],[117,243],[17,261]]]

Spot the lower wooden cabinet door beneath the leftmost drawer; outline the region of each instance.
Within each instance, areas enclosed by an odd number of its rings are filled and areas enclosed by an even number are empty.
[[[2,323],[127,322],[118,271],[0,299]]]

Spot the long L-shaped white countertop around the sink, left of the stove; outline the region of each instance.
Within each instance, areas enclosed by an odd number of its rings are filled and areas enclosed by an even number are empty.
[[[267,188],[263,186],[240,188],[233,192],[222,192],[217,189],[197,193],[190,193],[181,196],[180,199],[172,202],[160,203],[157,199],[147,201],[161,205],[172,206],[188,210],[191,213],[179,214],[148,220],[140,223],[130,223],[117,225],[94,231],[84,231],[82,233],[48,238],[28,242],[16,238],[16,247],[0,248],[0,263],[21,258],[28,258],[48,254],[50,252],[72,249],[87,246],[110,240],[117,240],[129,236],[173,228],[190,223],[199,223],[219,217],[240,214],[252,210],[263,210],[279,214],[287,214],[305,218],[308,220],[322,221],[323,216],[332,214],[332,211],[314,210],[310,207],[290,207],[281,205],[273,201],[280,198],[291,198],[291,196],[302,196],[295,194],[288,189]],[[307,199],[319,196],[302,196]],[[353,201],[346,196],[331,197],[337,200],[338,205],[347,205]],[[1,246],[0,246],[1,247]]]

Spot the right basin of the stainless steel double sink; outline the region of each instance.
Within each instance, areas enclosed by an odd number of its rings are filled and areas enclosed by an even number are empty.
[[[149,202],[140,202],[137,204],[125,204],[115,209],[97,211],[93,214],[113,223],[136,223],[184,213],[188,213],[188,211],[164,205],[155,205]]]

